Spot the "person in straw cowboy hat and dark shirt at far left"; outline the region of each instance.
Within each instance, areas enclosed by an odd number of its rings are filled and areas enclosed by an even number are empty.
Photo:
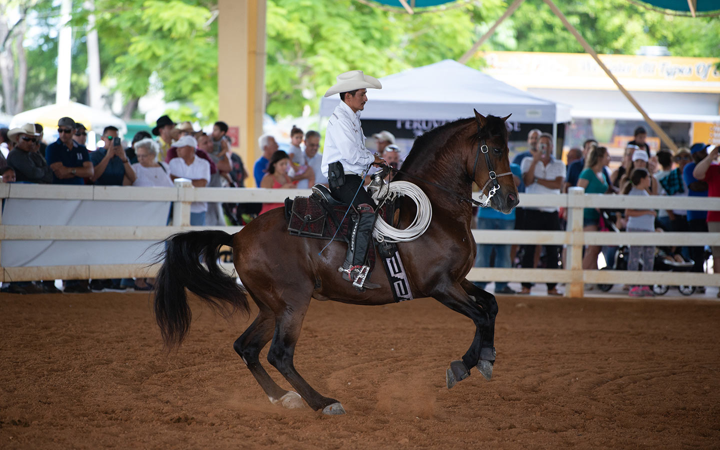
[[[27,183],[52,183],[53,171],[45,158],[33,151],[35,143],[42,133],[35,124],[26,123],[22,127],[13,128],[7,136],[15,146],[7,155],[8,166],[15,171],[16,181]]]

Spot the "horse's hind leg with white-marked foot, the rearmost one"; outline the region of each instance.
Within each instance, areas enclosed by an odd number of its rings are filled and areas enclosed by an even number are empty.
[[[258,305],[261,304],[258,303]],[[261,305],[258,317],[245,330],[245,333],[235,341],[233,348],[248,366],[251,374],[253,374],[253,377],[263,388],[271,402],[281,404],[285,408],[302,408],[303,404],[300,395],[279,387],[260,364],[260,351],[270,341],[274,330],[275,315],[267,307]]]

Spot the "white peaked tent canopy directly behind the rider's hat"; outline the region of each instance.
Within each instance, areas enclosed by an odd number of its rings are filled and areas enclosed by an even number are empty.
[[[372,75],[372,74],[370,74]],[[456,120],[481,114],[521,123],[570,122],[570,107],[505,84],[455,60],[413,68],[380,78],[382,89],[368,89],[363,119]],[[323,97],[320,115],[329,116],[340,96]]]

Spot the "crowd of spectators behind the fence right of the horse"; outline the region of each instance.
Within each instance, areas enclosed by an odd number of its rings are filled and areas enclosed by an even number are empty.
[[[621,164],[611,171],[608,148],[598,146],[594,139],[585,141],[582,150],[571,149],[568,164],[554,158],[552,136],[540,130],[528,132],[528,149],[518,153],[510,165],[513,174],[516,167],[521,171],[516,180],[518,192],[557,194],[567,192],[572,186],[585,189],[587,194],[618,195],[665,195],[672,197],[718,197],[720,196],[720,166],[716,163],[719,148],[696,143],[691,148],[677,152],[660,150],[652,153],[647,143],[647,131],[637,127],[634,138],[625,148]],[[575,151],[577,150],[577,151]],[[562,230],[562,210],[555,207],[516,207],[510,215],[502,215],[489,208],[480,208],[478,228],[490,230]],[[514,217],[513,217],[514,216]],[[586,208],[583,211],[583,230],[608,231],[673,231],[673,232],[720,232],[720,212],[696,210],[600,210]],[[539,251],[543,250],[542,255]],[[652,271],[656,258],[690,264],[692,271],[703,272],[709,253],[705,246],[629,246],[624,249],[624,261],[628,270]],[[713,271],[720,273],[720,247],[712,247]],[[587,246],[582,259],[583,269],[598,269],[598,257],[603,253],[606,265],[615,268],[617,246]],[[495,267],[544,267],[557,269],[562,260],[559,246],[478,246],[476,266]],[[485,288],[487,283],[476,283]],[[531,283],[522,283],[519,294],[528,294]],[[549,294],[560,294],[553,283],[547,284]],[[586,284],[585,289],[594,289]],[[648,286],[625,286],[631,296],[654,295]],[[515,293],[507,282],[495,282],[495,292]],[[696,287],[704,293],[705,287]],[[718,294],[720,297],[720,293]]]

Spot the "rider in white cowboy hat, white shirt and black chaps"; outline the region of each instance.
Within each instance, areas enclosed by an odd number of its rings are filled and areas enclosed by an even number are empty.
[[[330,87],[325,96],[340,94],[342,102],[333,111],[325,131],[323,149],[323,175],[328,177],[333,197],[346,204],[353,204],[360,212],[354,225],[351,242],[343,266],[338,269],[343,279],[356,283],[360,274],[368,271],[365,257],[372,239],[377,205],[362,187],[362,175],[370,164],[384,163],[365,148],[365,136],[360,124],[360,112],[367,102],[367,88],[382,89],[372,76],[362,71],[349,71],[338,75],[337,83]],[[374,289],[379,284],[359,280],[361,287]]]

